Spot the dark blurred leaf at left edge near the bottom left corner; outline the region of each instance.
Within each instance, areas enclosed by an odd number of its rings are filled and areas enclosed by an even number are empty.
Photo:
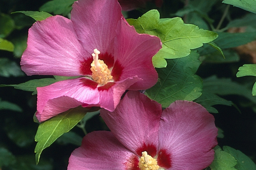
[[[0,147],[0,168],[15,163],[15,156],[7,149]]]

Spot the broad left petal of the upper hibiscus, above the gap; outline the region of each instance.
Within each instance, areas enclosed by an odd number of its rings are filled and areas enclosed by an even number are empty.
[[[27,75],[79,76],[87,54],[77,40],[72,22],[63,16],[37,21],[28,31],[21,69]]]

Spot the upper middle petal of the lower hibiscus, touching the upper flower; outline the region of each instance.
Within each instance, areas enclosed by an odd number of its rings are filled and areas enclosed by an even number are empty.
[[[116,138],[129,150],[141,156],[158,148],[161,105],[138,91],[128,91],[113,112],[101,109],[101,116]]]

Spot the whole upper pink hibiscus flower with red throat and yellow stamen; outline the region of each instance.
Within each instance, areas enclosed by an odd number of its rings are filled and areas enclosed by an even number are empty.
[[[80,76],[37,88],[38,120],[79,105],[113,111],[126,89],[156,83],[151,59],[161,45],[127,24],[117,0],[79,0],[71,20],[56,15],[36,22],[21,69],[27,75]]]

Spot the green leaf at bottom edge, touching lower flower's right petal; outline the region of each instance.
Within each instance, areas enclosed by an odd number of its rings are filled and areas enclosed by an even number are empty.
[[[221,148],[214,148],[214,160],[210,164],[211,170],[236,170],[236,160],[228,152],[221,150]]]

